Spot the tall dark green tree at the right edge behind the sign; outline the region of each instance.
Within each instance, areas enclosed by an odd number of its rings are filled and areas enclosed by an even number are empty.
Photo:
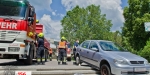
[[[145,32],[144,23],[150,22],[150,0],[128,0],[124,8],[125,23],[122,29],[123,43],[126,48],[142,49],[150,35]]]

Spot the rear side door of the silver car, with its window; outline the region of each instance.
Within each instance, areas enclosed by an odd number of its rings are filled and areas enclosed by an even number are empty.
[[[85,41],[82,43],[81,48],[79,49],[80,51],[80,59],[83,61],[87,60],[87,51],[88,51],[88,47],[89,47],[89,43],[90,41]]]

